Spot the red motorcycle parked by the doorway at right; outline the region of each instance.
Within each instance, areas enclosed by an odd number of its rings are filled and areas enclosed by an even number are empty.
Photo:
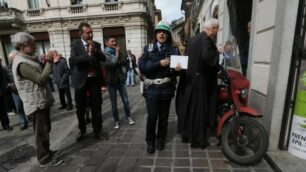
[[[268,149],[268,134],[256,118],[262,114],[247,106],[249,81],[238,71],[221,67],[216,134],[229,160],[251,165]]]

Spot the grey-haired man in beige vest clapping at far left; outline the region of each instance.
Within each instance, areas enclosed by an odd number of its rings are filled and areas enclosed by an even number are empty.
[[[44,68],[35,56],[35,38],[24,32],[11,37],[18,51],[13,61],[13,76],[26,115],[33,115],[36,156],[40,167],[60,165],[59,151],[50,150],[50,108],[54,102],[48,79],[52,73],[53,54],[49,52]]]

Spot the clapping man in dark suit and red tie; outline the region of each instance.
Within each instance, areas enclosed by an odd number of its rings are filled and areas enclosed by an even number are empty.
[[[76,113],[79,121],[79,129],[76,140],[80,141],[86,134],[86,93],[89,93],[89,106],[92,115],[92,127],[94,136],[107,140],[108,134],[102,132],[102,91],[105,91],[101,62],[105,61],[101,44],[93,41],[91,26],[81,22],[78,27],[81,39],[71,44],[71,85],[75,88]]]

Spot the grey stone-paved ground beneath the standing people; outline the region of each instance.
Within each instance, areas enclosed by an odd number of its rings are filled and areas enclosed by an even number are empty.
[[[71,133],[58,145],[62,151],[64,164],[57,167],[39,168],[35,158],[19,165],[11,171],[43,172],[272,172],[270,166],[263,160],[256,166],[240,166],[224,158],[217,140],[210,138],[211,146],[205,150],[192,149],[188,144],[181,143],[176,134],[176,114],[174,101],[169,117],[167,144],[163,151],[155,154],[146,153],[145,127],[146,109],[144,99],[139,93],[139,87],[129,87],[129,99],[132,117],[135,125],[128,125],[123,120],[123,107],[118,99],[122,126],[113,129],[110,101],[103,104],[104,129],[110,133],[110,139],[99,141],[93,137],[90,125],[84,140],[75,142],[78,132],[75,127]],[[174,100],[174,99],[173,99]],[[76,120],[76,118],[74,118]],[[72,123],[72,122],[71,122]],[[67,123],[69,125],[69,123]],[[55,128],[56,126],[53,125]],[[1,169],[0,169],[1,171]]]

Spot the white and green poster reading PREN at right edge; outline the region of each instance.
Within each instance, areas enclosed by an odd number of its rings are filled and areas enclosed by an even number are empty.
[[[301,64],[288,151],[306,159],[306,60]]]

